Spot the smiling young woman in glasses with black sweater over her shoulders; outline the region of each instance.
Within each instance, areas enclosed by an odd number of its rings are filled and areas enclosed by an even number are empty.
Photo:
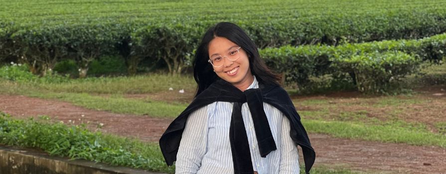
[[[288,93],[237,25],[211,27],[196,51],[192,103],[159,140],[176,174],[298,174],[315,153]]]

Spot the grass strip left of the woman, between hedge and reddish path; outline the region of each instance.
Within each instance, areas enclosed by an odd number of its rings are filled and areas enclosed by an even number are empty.
[[[152,117],[176,117],[187,105],[170,104],[163,101],[148,101],[126,98],[122,95],[102,97],[88,93],[52,92],[26,84],[0,81],[0,93],[26,95],[31,97],[58,99],[71,102],[74,105],[94,110],[104,110],[114,113],[148,115]]]

